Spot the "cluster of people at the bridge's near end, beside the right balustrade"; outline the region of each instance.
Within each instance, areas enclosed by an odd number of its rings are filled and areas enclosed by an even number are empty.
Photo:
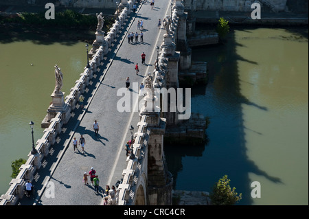
[[[100,179],[99,179],[98,174],[93,168],[91,168],[88,174],[87,172],[84,172],[84,176],[83,176],[84,185],[89,185],[88,176],[90,176],[91,185],[94,186],[94,193],[99,194]],[[104,198],[103,205],[116,205],[116,198],[117,198],[118,191],[115,185],[113,185],[112,188],[110,188],[109,185],[106,185],[102,194]]]

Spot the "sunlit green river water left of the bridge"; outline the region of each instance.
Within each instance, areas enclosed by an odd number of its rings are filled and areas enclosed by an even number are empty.
[[[41,122],[52,102],[50,95],[55,86],[54,65],[58,65],[63,73],[65,96],[69,95],[87,65],[85,43],[81,41],[47,41],[34,34],[34,30],[33,35],[16,34],[16,40],[9,38],[5,41],[5,36],[0,38],[1,194],[5,194],[9,187],[11,162],[27,159],[32,149],[29,122],[35,124],[34,143],[43,135]]]

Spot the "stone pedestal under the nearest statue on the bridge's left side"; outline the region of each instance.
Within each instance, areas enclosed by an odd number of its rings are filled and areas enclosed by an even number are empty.
[[[52,93],[52,104],[47,109],[47,115],[41,123],[42,128],[48,128],[51,124],[50,120],[56,117],[57,113],[62,113],[61,119],[63,124],[67,124],[69,118],[71,117],[71,108],[64,101],[65,93],[60,91],[59,93]]]

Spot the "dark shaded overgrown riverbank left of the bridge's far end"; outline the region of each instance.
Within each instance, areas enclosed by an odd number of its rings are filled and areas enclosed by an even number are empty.
[[[22,13],[0,15],[0,43],[26,41],[49,44],[63,41],[83,41],[93,43],[98,19],[95,15],[82,15],[72,10],[56,14],[58,19],[46,20],[43,13]],[[105,19],[104,31],[107,31],[114,19]]]

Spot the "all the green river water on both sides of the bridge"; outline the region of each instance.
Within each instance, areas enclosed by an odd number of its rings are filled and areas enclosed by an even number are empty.
[[[307,32],[308,34],[308,32]],[[0,192],[15,159],[27,159],[43,135],[41,121],[54,90],[62,91],[86,65],[82,42],[0,42]],[[242,193],[240,205],[308,205],[308,36],[284,29],[240,29],[225,45],[193,49],[208,63],[206,87],[192,89],[192,112],[209,116],[209,141],[192,148],[166,146],[174,188],[209,192],[224,174]],[[33,64],[33,65],[31,65]],[[190,148],[189,148],[190,147]],[[251,182],[261,198],[251,198]]]

